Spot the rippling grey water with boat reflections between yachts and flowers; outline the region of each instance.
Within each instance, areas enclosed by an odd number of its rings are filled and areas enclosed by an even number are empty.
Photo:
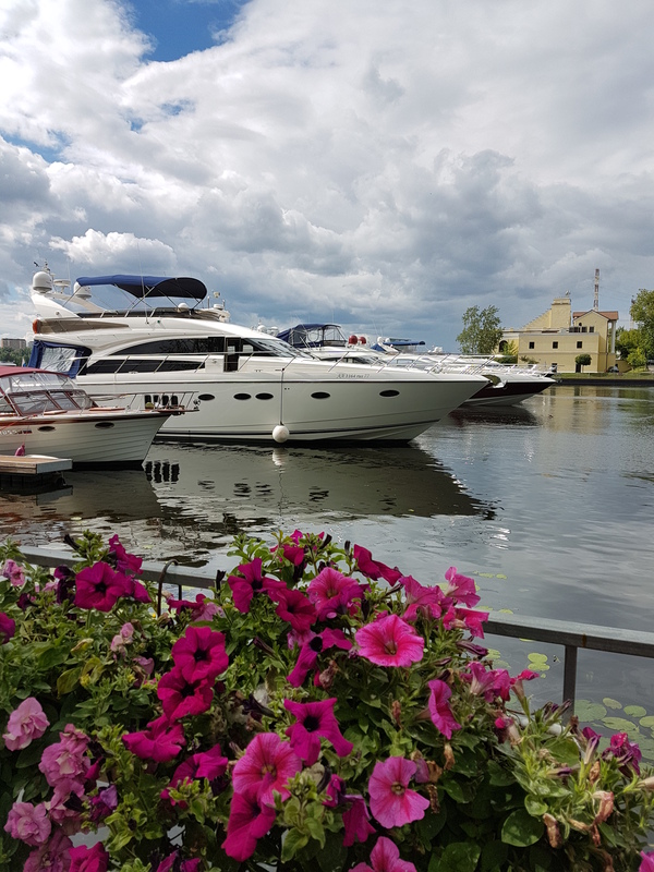
[[[325,531],[424,584],[456,566],[493,609],[651,630],[653,433],[653,389],[557,386],[511,410],[455,412],[402,447],[159,444],[144,470],[72,472],[58,493],[0,494],[0,521],[32,545],[118,533],[145,559],[207,574],[233,566],[235,533]],[[545,656],[530,689],[560,697],[560,649],[488,641],[512,668]],[[650,675],[650,661],[580,653],[586,699],[652,715]]]

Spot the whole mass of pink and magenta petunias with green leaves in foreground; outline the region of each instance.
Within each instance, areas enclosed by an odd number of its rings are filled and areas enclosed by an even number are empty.
[[[0,548],[0,869],[654,872],[638,747],[530,711],[456,569],[241,537],[161,608],[118,537],[74,545]]]

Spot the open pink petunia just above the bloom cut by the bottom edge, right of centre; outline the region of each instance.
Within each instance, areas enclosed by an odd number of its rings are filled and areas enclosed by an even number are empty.
[[[389,756],[375,763],[368,782],[371,811],[382,826],[403,826],[425,816],[429,800],[409,788],[416,765],[403,756]]]

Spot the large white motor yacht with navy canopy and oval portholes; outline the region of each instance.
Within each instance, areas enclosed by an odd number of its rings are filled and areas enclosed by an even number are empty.
[[[174,403],[192,391],[197,411],[161,428],[173,439],[407,441],[486,384],[470,373],[322,361],[229,323],[207,296],[194,278],[83,277],[71,289],[38,271],[29,363],[113,402],[136,393],[144,407]]]

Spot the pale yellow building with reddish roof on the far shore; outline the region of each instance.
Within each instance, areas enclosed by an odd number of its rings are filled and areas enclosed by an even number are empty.
[[[558,296],[547,312],[524,327],[502,330],[499,351],[506,352],[513,343],[519,363],[528,358],[542,366],[556,364],[559,373],[573,373],[574,359],[590,354],[591,363],[584,371],[605,373],[616,363],[617,326],[617,312],[572,312],[570,296]]]

